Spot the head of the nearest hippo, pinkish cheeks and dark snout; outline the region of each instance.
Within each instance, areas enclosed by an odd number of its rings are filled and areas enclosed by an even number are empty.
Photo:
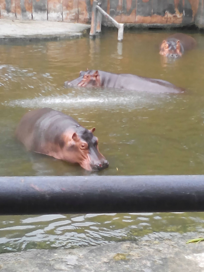
[[[108,167],[108,161],[99,152],[98,138],[93,135],[95,128],[90,130],[78,127],[78,131],[65,131],[61,159],[78,163],[88,171],[98,171]]]

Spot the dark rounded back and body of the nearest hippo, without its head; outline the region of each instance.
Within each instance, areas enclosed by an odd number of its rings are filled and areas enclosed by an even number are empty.
[[[80,127],[72,117],[51,108],[26,113],[16,129],[16,137],[28,150],[45,153],[46,143],[55,143],[70,127]]]

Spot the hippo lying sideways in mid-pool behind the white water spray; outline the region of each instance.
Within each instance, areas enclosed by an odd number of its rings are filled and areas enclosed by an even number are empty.
[[[65,87],[105,87],[148,92],[184,92],[172,83],[131,74],[114,74],[100,70],[81,71],[79,77],[64,83]]]

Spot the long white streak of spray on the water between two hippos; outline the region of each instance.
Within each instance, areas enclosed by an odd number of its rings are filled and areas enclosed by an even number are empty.
[[[115,91],[110,90],[95,93],[81,92],[78,94],[69,93],[67,95],[56,96],[39,96],[33,99],[16,99],[10,102],[3,103],[10,107],[20,106],[23,108],[43,108],[50,107],[54,109],[69,108],[87,108],[87,107],[100,107],[100,108],[142,108],[150,107],[151,105],[162,105],[164,100],[168,100],[169,96],[161,94],[149,94],[139,92]]]

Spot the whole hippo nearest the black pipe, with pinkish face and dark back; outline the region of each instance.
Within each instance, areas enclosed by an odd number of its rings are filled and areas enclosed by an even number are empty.
[[[86,129],[69,115],[41,108],[21,118],[15,135],[27,150],[78,163],[92,171],[108,167],[108,161],[99,152],[94,131],[95,128]]]

